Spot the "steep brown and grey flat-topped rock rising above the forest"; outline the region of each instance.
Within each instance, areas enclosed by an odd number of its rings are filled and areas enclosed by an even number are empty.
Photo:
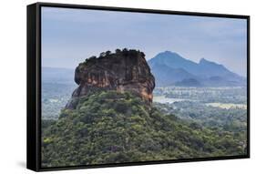
[[[129,91],[151,103],[155,87],[144,53],[126,48],[88,58],[76,68],[75,81],[78,87],[67,103],[69,109],[77,107],[79,97],[99,90]]]

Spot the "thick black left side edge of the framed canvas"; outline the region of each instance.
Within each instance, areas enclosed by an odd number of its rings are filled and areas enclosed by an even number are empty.
[[[26,168],[38,170],[37,5],[26,6]]]

